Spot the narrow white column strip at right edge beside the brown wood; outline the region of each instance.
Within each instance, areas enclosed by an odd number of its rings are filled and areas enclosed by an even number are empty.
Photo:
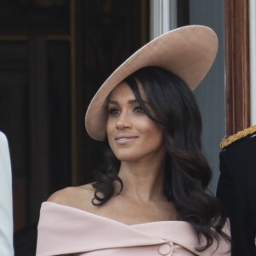
[[[256,1],[249,2],[251,125],[256,125]]]

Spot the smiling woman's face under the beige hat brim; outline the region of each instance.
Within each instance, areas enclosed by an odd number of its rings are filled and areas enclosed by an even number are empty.
[[[139,90],[147,105],[140,85]],[[125,82],[116,86],[109,96],[107,134],[113,154],[121,161],[152,160],[165,155],[163,128],[143,112]]]

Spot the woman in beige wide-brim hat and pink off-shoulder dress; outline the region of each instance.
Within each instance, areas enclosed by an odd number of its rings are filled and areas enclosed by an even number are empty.
[[[38,255],[230,255],[224,212],[205,191],[211,171],[191,92],[217,48],[211,29],[179,28],[102,84],[85,126],[105,141],[106,163],[95,183],[44,202]]]

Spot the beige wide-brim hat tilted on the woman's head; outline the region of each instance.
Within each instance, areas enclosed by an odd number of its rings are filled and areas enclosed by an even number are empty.
[[[85,128],[90,137],[106,137],[106,99],[113,88],[142,67],[163,67],[177,74],[191,90],[204,79],[218,50],[218,38],[207,26],[183,26],[166,32],[138,49],[102,84],[90,102]]]

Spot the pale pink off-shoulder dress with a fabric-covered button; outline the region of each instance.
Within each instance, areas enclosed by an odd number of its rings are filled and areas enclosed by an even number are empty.
[[[224,231],[230,234],[227,223]],[[74,253],[88,256],[191,256],[226,255],[229,246],[220,241],[206,251],[195,251],[195,233],[183,221],[126,225],[90,212],[44,202],[38,224],[37,256]]]

